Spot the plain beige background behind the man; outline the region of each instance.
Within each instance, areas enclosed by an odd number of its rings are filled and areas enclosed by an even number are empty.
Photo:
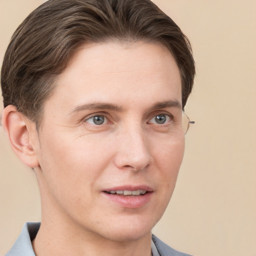
[[[42,0],[0,0],[0,61]],[[154,233],[193,255],[256,255],[256,1],[154,0],[190,38],[197,68],[186,112],[196,123],[172,200]],[[0,106],[2,109],[2,105]],[[33,172],[0,127],[0,255],[40,219]]]

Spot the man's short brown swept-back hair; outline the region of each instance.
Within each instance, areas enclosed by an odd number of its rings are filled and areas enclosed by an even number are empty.
[[[48,0],[18,26],[1,68],[4,107],[12,104],[39,125],[54,78],[84,43],[158,42],[175,58],[181,74],[182,107],[193,86],[189,40],[150,0]]]

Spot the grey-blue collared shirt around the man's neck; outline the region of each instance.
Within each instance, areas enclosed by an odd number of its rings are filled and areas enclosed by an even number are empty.
[[[35,238],[40,222],[26,222],[20,235],[5,256],[35,256],[31,241]],[[152,256],[190,256],[172,249],[152,234]]]

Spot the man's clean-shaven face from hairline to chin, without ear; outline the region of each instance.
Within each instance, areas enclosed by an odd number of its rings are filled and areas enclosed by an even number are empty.
[[[143,42],[86,45],[56,84],[36,147],[42,218],[112,240],[149,233],[184,151],[172,55]]]

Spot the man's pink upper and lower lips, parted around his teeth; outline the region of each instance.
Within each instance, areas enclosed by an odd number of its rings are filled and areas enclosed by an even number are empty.
[[[109,194],[111,190],[146,190],[146,193],[143,195],[137,196],[122,196],[118,194]],[[152,195],[153,195],[153,188],[147,185],[124,185],[124,186],[115,186],[107,189],[102,190],[102,195],[105,196],[111,203],[114,203],[118,206],[124,208],[140,208],[145,206],[149,203]]]

